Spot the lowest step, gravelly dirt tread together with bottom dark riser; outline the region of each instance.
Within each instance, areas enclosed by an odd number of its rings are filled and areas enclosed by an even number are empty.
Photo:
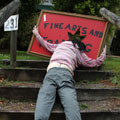
[[[3,105],[5,104],[5,105]],[[0,104],[1,120],[33,120],[35,104],[31,102],[7,101]],[[4,107],[5,106],[5,107]],[[120,99],[80,102],[82,120],[119,120]],[[63,108],[54,105],[50,120],[65,120]]]

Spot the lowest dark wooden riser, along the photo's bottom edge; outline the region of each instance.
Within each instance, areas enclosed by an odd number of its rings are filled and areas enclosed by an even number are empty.
[[[119,112],[90,112],[81,113],[82,120],[119,120]],[[1,120],[34,120],[34,113],[17,113],[17,112],[0,112]],[[2,119],[3,118],[3,119]],[[7,119],[5,119],[7,118]],[[52,113],[50,120],[65,120],[65,115],[62,112]]]

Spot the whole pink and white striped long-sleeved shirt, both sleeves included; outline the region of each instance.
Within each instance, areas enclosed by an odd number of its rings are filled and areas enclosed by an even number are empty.
[[[106,48],[104,48],[100,57],[97,59],[89,58],[84,52],[74,47],[71,41],[64,41],[61,44],[51,44],[45,41],[39,34],[36,39],[48,51],[52,52],[50,63],[58,62],[67,65],[72,71],[79,65],[86,67],[98,67],[103,64],[106,57]]]

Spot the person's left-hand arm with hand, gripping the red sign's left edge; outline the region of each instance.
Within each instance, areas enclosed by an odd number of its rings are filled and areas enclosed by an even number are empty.
[[[58,44],[51,44],[48,43],[47,41],[45,41],[39,34],[38,29],[36,28],[36,26],[33,28],[33,34],[36,36],[37,41],[44,47],[46,48],[48,51],[50,52],[54,52],[55,48],[58,46]]]

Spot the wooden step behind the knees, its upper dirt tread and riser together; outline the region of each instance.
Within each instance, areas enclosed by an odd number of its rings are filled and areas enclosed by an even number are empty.
[[[40,83],[34,82],[15,82],[0,87],[0,97],[16,100],[36,100]],[[78,96],[78,101],[83,100],[101,100],[120,96],[120,88],[117,86],[105,85],[102,83],[96,84],[81,84],[75,86]]]

